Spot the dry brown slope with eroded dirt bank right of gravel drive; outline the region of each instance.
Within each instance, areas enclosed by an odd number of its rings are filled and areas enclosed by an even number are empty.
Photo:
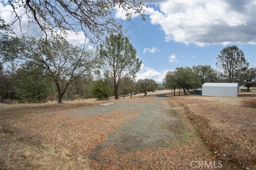
[[[180,105],[224,168],[256,169],[256,109],[240,106],[240,98],[186,96]]]

